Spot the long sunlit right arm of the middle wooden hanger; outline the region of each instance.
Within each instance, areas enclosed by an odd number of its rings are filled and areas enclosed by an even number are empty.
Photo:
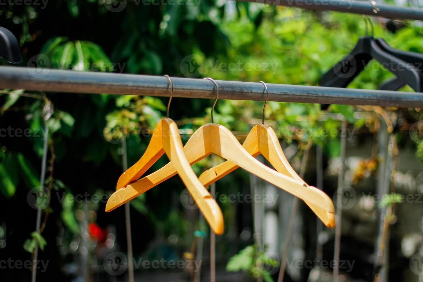
[[[326,194],[321,194],[319,189],[307,187],[304,183],[276,172],[258,162],[242,148],[231,131],[224,126],[218,124],[209,124],[208,126],[211,127],[211,138],[214,140],[211,144],[213,153],[325,211],[331,213],[335,211],[332,200]]]

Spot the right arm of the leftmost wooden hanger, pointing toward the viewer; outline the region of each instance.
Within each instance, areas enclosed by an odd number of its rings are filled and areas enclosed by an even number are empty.
[[[163,132],[167,132],[167,134],[163,134],[163,148],[170,162],[172,162],[198,208],[203,213],[204,218],[209,222],[211,229],[213,229],[216,234],[222,234],[222,211],[192,170],[190,162],[185,156],[184,147],[182,146],[181,136],[179,135],[176,123],[169,118],[163,119]],[[201,148],[201,146],[196,148]]]

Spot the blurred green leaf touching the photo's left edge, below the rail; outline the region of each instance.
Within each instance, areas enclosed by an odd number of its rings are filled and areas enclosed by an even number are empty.
[[[13,157],[6,157],[0,164],[0,191],[6,198],[11,198],[19,183],[18,168]]]

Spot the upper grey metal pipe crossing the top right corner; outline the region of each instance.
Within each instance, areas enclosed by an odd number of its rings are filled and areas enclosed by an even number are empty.
[[[352,14],[380,16],[388,19],[418,19],[423,20],[423,9],[418,7],[398,7],[361,0],[238,0],[244,2],[257,2],[268,5],[281,5],[308,10],[337,11]],[[377,13],[374,8],[379,9]]]

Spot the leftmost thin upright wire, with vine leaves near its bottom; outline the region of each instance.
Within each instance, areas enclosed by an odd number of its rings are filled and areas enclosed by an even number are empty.
[[[49,140],[49,127],[47,126],[47,120],[52,116],[53,114],[53,106],[50,101],[47,101],[44,109],[43,109],[43,115],[44,115],[44,143],[43,143],[43,158],[41,160],[41,175],[40,175],[40,189],[42,192],[44,191],[44,182],[45,182],[45,175],[46,175],[46,167],[47,167],[47,144]],[[36,225],[35,230],[37,233],[40,233],[40,225],[41,225],[41,208],[37,209],[37,218],[36,218]],[[33,252],[33,263],[38,260],[38,243],[35,245],[35,249]],[[36,282],[37,277],[37,268],[32,265],[31,269],[31,282]]]

